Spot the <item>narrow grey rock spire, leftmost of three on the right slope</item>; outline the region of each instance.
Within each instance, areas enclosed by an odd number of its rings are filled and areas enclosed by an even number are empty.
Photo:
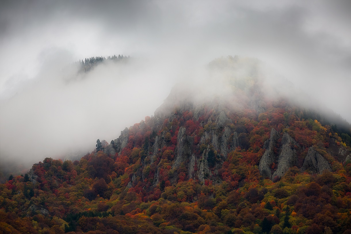
[[[265,178],[271,178],[271,164],[274,162],[274,147],[277,144],[279,135],[277,130],[272,128],[270,138],[264,143],[266,152],[261,157],[258,169],[260,174]]]

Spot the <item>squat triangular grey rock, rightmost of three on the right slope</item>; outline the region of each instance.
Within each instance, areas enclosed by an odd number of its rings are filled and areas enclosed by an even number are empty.
[[[329,162],[312,147],[308,149],[307,156],[301,168],[301,171],[306,170],[318,174],[322,174],[323,171],[332,171]]]

